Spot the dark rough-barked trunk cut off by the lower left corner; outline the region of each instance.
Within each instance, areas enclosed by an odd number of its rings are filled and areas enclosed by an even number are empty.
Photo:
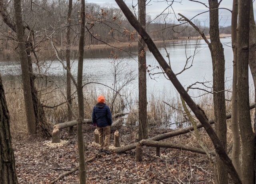
[[[10,133],[10,115],[0,76],[0,183],[18,183]]]

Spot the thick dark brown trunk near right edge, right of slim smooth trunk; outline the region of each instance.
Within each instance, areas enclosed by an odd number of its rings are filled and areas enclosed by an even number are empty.
[[[242,140],[242,175],[244,184],[254,183],[254,143],[255,135],[249,110],[249,19],[250,0],[238,3],[238,36],[237,36],[237,94],[238,122]]]

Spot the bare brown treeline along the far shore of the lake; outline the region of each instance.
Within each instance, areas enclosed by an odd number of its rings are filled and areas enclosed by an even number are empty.
[[[6,3],[6,12],[14,20],[12,2]],[[50,36],[55,46],[66,47],[67,26],[67,0],[23,0],[24,26],[28,36],[38,43],[38,46],[47,45],[47,37]],[[136,10],[133,12],[136,12]],[[137,13],[137,12],[136,12]],[[80,30],[80,6],[79,1],[74,1],[72,7],[72,46],[78,45]],[[130,26],[126,17],[118,8],[111,6],[100,6],[95,3],[86,4],[86,44],[104,44],[114,42],[136,41],[137,33]],[[179,38],[192,38],[199,36],[196,30],[188,23],[180,24],[172,15],[160,15],[155,18],[147,15],[146,30],[154,40],[173,40]],[[194,19],[196,24],[204,33],[209,34],[209,28],[202,22]],[[13,40],[16,37],[13,30],[8,28],[0,19],[0,50],[8,50],[15,46]],[[30,32],[30,33],[29,33]],[[231,34],[231,27],[221,27],[220,34]],[[42,49],[42,48],[40,48]]]

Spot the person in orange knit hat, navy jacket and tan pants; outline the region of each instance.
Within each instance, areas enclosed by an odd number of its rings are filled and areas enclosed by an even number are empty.
[[[110,126],[112,124],[112,115],[110,108],[104,103],[104,96],[98,97],[98,103],[92,110],[92,124],[97,126],[100,138],[100,151],[110,154],[109,139],[110,139]],[[105,141],[104,141],[105,134]]]

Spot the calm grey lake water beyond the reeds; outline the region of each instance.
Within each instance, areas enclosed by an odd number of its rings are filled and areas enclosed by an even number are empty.
[[[222,38],[221,42],[224,47],[225,54],[225,77],[226,77],[226,88],[231,88],[232,85],[232,60],[233,53],[231,47],[231,38]],[[157,43],[158,49],[160,53],[166,58],[168,62],[168,58],[166,57],[166,51],[164,50],[163,43]],[[196,48],[197,46],[197,48]],[[185,70],[182,74],[178,75],[178,79],[180,80],[183,86],[188,86],[194,82],[206,82],[212,81],[212,62],[211,55],[208,45],[204,42],[204,40],[180,40],[175,42],[166,42],[166,48],[170,53],[170,61],[172,70],[175,73],[180,72],[184,68],[184,64],[186,63],[186,56],[191,57],[191,60],[188,64],[192,62],[192,58],[195,52],[193,66],[188,70]],[[196,51],[195,51],[196,48]],[[114,61],[113,58],[109,58],[111,49],[103,48],[103,49],[93,49],[88,50],[86,48],[86,52],[84,54],[84,70],[83,77],[84,82],[100,82],[102,84],[106,84],[111,86],[114,82],[113,66],[114,63],[118,63],[118,66],[121,67],[122,71],[118,76],[118,82],[122,81],[125,74],[129,78],[129,72],[132,71],[133,74],[138,74],[138,56],[133,55],[137,54],[136,47],[128,47],[128,51],[131,54],[126,52],[120,52],[118,54],[118,59]],[[76,59],[76,54],[74,56],[74,60],[72,61],[72,74],[76,76],[77,74],[77,65],[78,60]],[[3,76],[3,80],[15,81],[20,76],[20,64],[18,64],[14,60],[10,60],[10,55],[5,54],[2,55],[0,62],[0,74]],[[162,72],[161,69],[158,69],[156,66],[158,62],[149,51],[146,52],[146,60],[149,70],[155,68],[150,71],[151,73]],[[36,66],[34,66],[35,72]],[[63,70],[62,64],[58,60],[49,61],[45,66],[42,72],[45,72],[47,75],[53,77],[54,79],[58,79],[58,82],[61,80],[65,80],[65,72]],[[172,96],[176,96],[176,91],[174,90],[174,86],[171,84],[169,80],[165,78],[163,74],[158,74],[151,76],[154,79],[151,79],[147,74],[147,86],[148,93],[159,93],[162,91],[166,91]],[[250,82],[252,82],[252,78],[250,76]],[[136,93],[138,91],[138,79],[134,80],[133,84],[130,86]],[[210,82],[210,84],[212,84]],[[197,94],[198,92],[192,92]],[[190,92],[191,94],[191,92]],[[193,96],[193,95],[192,95]]]

